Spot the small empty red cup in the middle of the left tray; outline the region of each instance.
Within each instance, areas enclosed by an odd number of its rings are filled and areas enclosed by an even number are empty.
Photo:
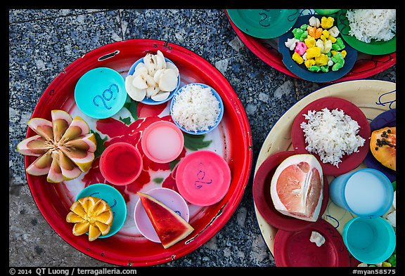
[[[128,185],[141,174],[143,161],[134,145],[124,142],[108,146],[100,157],[100,171],[114,185]]]

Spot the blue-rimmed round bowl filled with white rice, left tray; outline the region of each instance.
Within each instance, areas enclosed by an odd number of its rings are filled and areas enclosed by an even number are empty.
[[[224,115],[224,103],[211,86],[186,84],[174,93],[170,115],[174,124],[185,133],[201,135],[219,125]]]

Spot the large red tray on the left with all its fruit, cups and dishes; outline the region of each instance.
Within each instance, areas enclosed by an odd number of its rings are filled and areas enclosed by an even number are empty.
[[[191,79],[209,87],[218,107],[196,115],[214,124],[203,123],[208,129],[193,134],[177,126],[170,114],[180,82],[186,85]],[[95,84],[95,100],[83,100],[85,88]],[[207,98],[196,100],[201,104]],[[98,114],[101,105],[111,108]],[[66,242],[100,261],[157,265],[191,253],[225,225],[248,183],[252,139],[243,105],[210,63],[166,41],[120,41],[83,55],[52,81],[32,118],[27,139],[17,147],[25,155],[32,196]],[[224,183],[219,191],[211,190],[218,192],[216,202],[210,199],[205,205],[186,201],[177,189],[179,164],[199,152],[217,155],[229,173],[219,179]],[[198,180],[205,181],[202,173]],[[49,182],[56,185],[43,185]],[[163,198],[153,193],[156,188],[165,190]],[[136,202],[143,210],[140,224]]]

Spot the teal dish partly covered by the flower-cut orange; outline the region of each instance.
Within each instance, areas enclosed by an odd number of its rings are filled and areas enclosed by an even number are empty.
[[[124,197],[122,197],[121,193],[117,189],[103,183],[91,184],[79,192],[76,200],[79,200],[82,197],[101,198],[107,202],[111,208],[111,211],[113,211],[113,225],[111,225],[110,231],[104,236],[100,235],[100,237],[98,237],[99,239],[111,237],[122,228],[125,218],[127,218],[127,204],[125,203]]]

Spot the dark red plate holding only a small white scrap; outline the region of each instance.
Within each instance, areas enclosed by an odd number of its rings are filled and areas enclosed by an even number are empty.
[[[325,238],[321,247],[309,240],[312,231]],[[278,230],[274,239],[274,261],[276,266],[281,267],[351,266],[350,254],[342,236],[323,219],[300,231]]]

